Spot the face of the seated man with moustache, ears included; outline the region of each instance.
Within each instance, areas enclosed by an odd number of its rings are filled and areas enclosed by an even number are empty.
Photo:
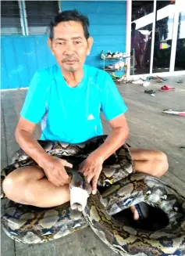
[[[74,72],[83,67],[92,43],[93,39],[85,38],[82,24],[76,21],[59,23],[54,27],[53,39],[48,39],[48,45],[59,66],[68,72]]]

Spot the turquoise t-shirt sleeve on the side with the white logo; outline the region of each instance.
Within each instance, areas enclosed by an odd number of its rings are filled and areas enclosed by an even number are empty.
[[[109,74],[105,74],[104,89],[102,92],[101,111],[107,121],[124,114],[127,106],[123,101],[114,81]]]

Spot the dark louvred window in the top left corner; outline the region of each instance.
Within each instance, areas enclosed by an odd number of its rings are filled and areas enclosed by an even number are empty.
[[[1,1],[2,35],[23,34],[18,1]]]

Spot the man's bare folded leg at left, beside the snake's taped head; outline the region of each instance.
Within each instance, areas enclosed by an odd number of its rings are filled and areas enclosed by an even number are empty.
[[[69,185],[57,187],[48,181],[44,171],[27,166],[12,171],[4,180],[6,197],[20,204],[55,207],[69,201]]]

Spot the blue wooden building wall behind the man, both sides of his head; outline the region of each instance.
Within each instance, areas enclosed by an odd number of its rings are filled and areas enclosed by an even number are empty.
[[[126,2],[62,1],[62,10],[77,9],[88,16],[90,34],[94,38],[86,63],[102,67],[102,50],[126,50]],[[3,36],[1,88],[28,87],[34,72],[55,63],[47,45],[47,35]]]

